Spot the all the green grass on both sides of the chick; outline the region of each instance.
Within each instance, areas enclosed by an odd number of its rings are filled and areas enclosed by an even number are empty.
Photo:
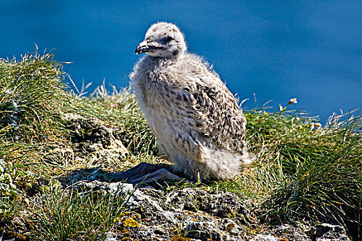
[[[11,227],[20,230],[12,235],[23,233],[20,238],[29,240],[94,240],[119,216],[125,197],[82,196],[53,187],[59,176],[94,166],[87,158],[58,151],[72,149],[65,114],[95,118],[114,129],[114,137],[130,154],[114,160],[106,171],[162,158],[129,89],[111,87],[109,92],[103,84],[86,97],[87,87],[74,93],[65,82],[72,80],[51,53],[0,60],[0,233]],[[318,118],[291,107],[246,110],[254,163],[231,180],[206,182],[200,188],[237,193],[261,224],[334,222],[357,235],[362,116],[334,115],[318,129],[311,128]],[[14,219],[23,225],[14,227]]]

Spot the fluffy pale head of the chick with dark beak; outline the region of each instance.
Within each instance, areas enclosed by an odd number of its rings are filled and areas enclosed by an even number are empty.
[[[136,48],[136,54],[146,53],[154,57],[177,58],[186,50],[182,32],[172,23],[154,23]]]

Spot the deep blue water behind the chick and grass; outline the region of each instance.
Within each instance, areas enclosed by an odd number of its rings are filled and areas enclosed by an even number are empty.
[[[150,24],[171,21],[244,107],[362,108],[362,1],[0,1],[0,57],[54,50],[72,79],[129,85]],[[358,111],[361,113],[361,109]]]

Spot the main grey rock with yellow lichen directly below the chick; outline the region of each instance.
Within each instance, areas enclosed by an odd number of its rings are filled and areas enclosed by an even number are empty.
[[[98,180],[79,182],[76,187],[114,195],[133,191],[128,211],[117,219],[106,240],[244,240],[244,225],[250,219],[241,200],[225,191],[134,190],[130,184]]]

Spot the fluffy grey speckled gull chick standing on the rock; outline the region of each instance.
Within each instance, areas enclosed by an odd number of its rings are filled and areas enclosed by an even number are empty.
[[[173,165],[140,165],[121,173],[129,182],[232,178],[252,163],[246,119],[213,67],[188,52],[174,23],[150,26],[136,54],[130,80],[159,149]]]

